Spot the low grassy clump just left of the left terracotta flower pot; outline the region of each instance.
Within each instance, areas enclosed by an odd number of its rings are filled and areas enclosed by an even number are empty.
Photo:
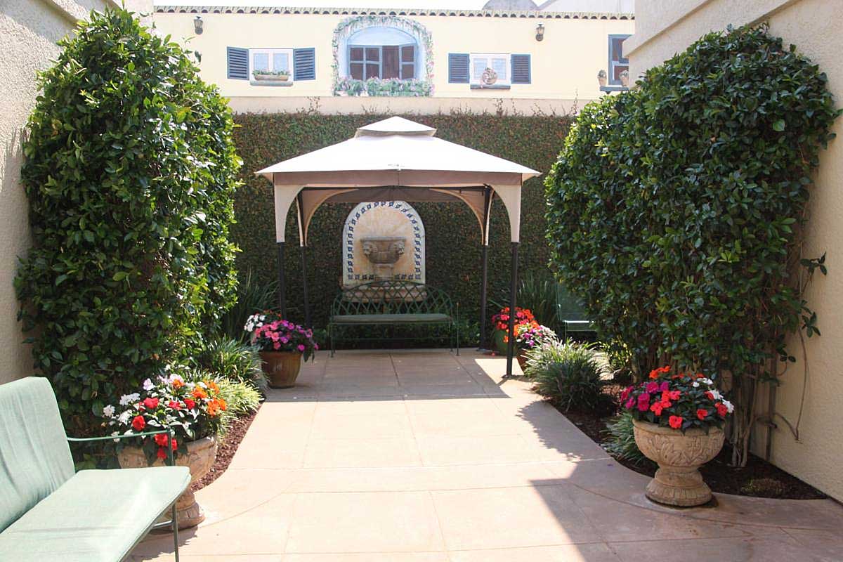
[[[211,338],[199,344],[193,356],[196,367],[211,372],[214,377],[236,383],[250,383],[262,387],[266,377],[261,369],[260,355],[255,347],[238,340]]]

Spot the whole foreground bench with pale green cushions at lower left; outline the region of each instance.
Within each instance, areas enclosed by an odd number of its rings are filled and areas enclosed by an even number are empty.
[[[171,433],[169,429],[146,434]],[[116,436],[122,437],[122,436]],[[0,560],[116,562],[187,489],[186,467],[81,470],[74,474],[56,396],[43,377],[0,385]],[[172,452],[170,452],[172,463]]]

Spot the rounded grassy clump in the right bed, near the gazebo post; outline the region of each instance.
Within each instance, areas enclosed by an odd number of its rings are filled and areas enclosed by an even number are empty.
[[[535,392],[564,411],[605,409],[611,398],[603,393],[604,381],[592,346],[566,342],[551,349],[554,361],[533,371]]]

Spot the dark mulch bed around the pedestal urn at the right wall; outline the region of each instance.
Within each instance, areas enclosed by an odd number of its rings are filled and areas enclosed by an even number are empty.
[[[604,393],[614,399],[614,404],[619,403],[620,392],[624,385],[609,383],[604,387]],[[606,434],[606,423],[617,413],[609,412],[561,412],[568,420],[571,420],[580,430],[592,441],[598,444],[608,440]],[[749,456],[745,468],[734,468],[729,466],[732,458],[732,447],[727,443],[717,458],[704,465],[700,472],[711,490],[722,494],[752,495],[760,498],[778,498],[787,500],[821,500],[827,498],[819,490],[792,474],[787,474],[781,468],[773,466],[763,458],[755,455]],[[616,459],[618,463],[626,468],[631,468],[637,473],[652,476],[656,473],[658,466],[655,463],[636,465],[625,460]]]

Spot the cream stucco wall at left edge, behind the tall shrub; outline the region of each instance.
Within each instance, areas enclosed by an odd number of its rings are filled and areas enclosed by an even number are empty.
[[[151,0],[127,3],[151,10]],[[17,321],[13,279],[18,256],[30,246],[28,205],[20,185],[24,125],[35,105],[35,72],[58,55],[56,41],[92,9],[111,0],[3,0],[0,3],[0,383],[32,372],[30,351]]]

